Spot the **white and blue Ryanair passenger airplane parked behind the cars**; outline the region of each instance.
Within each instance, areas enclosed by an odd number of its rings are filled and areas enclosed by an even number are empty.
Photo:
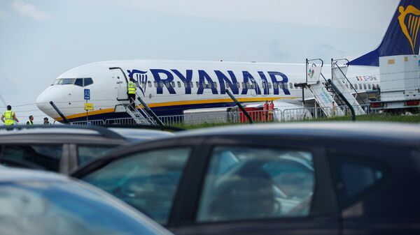
[[[350,61],[347,77],[360,92],[379,84],[379,56],[419,54],[420,1],[402,0],[376,50]],[[63,73],[38,96],[41,111],[62,121],[50,101],[70,121],[123,118],[127,79],[133,77],[140,96],[158,116],[182,114],[185,109],[230,107],[239,102],[302,99],[296,83],[306,81],[305,64],[242,63],[225,61],[104,61],[89,63]],[[326,79],[330,73],[325,73]],[[328,76],[329,75],[329,76]],[[86,91],[86,90],[89,91]],[[89,100],[85,97],[89,92]],[[305,99],[311,93],[304,93]],[[94,106],[86,112],[84,103]],[[277,102],[279,103],[279,102]]]

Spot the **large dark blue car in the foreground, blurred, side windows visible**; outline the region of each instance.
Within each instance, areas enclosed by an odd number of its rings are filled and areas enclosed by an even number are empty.
[[[174,234],[419,234],[420,126],[209,128],[125,147],[73,176]]]

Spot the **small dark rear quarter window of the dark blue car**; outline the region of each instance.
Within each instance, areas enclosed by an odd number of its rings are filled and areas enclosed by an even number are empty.
[[[386,174],[384,165],[367,159],[330,156],[332,178],[339,204],[349,206],[378,185]]]

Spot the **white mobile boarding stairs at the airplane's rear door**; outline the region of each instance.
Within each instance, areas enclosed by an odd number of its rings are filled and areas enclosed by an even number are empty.
[[[314,63],[316,61],[318,61],[318,63]],[[344,66],[338,66],[339,61],[346,61],[347,63],[345,63]],[[336,89],[338,90],[336,91],[321,73],[323,68],[323,60],[306,60],[307,88],[312,93],[316,103],[318,103],[318,105],[323,109],[323,112],[327,117],[346,115],[346,104],[344,100],[339,98],[338,92],[341,92],[344,98],[346,98],[349,104],[353,107],[356,115],[365,114],[365,111],[362,107],[360,107],[360,104],[357,101],[358,93],[356,89],[354,89],[353,84],[351,84],[349,79],[346,77],[348,62],[349,61],[347,59],[331,59],[330,82],[335,85]],[[323,81],[320,79],[321,77],[323,78]],[[346,84],[348,85],[346,86]],[[356,96],[353,96],[351,91],[353,91]]]

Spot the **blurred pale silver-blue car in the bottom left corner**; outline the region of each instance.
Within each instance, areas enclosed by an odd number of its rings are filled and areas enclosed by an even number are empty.
[[[66,176],[0,170],[1,234],[171,234],[102,190]]]

